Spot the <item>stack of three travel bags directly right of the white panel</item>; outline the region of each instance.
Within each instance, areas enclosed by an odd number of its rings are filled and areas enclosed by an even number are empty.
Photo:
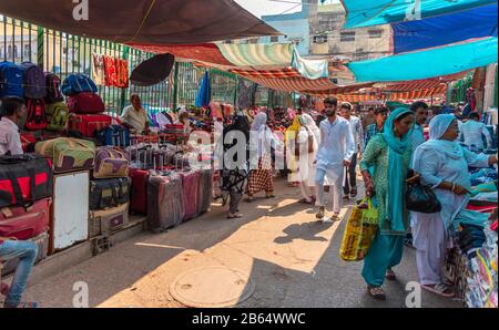
[[[89,237],[108,236],[129,223],[129,158],[118,147],[98,147],[90,181]]]

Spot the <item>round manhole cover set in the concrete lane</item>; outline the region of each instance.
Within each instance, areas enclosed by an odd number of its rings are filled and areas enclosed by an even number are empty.
[[[223,266],[185,271],[170,286],[170,293],[176,301],[200,308],[235,306],[254,291],[255,285],[246,274]]]

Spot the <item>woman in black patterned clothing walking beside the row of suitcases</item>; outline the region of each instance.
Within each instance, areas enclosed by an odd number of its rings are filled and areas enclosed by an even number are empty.
[[[228,197],[228,219],[241,218],[240,202],[243,198],[247,181],[247,159],[249,141],[249,124],[241,112],[234,118],[234,123],[226,126],[223,131],[223,171],[221,175],[221,189],[223,193],[223,204],[227,203]],[[233,148],[241,148],[231,152]]]

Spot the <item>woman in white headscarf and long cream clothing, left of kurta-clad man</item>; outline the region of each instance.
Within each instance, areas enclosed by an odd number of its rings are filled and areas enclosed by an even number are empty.
[[[298,116],[302,127],[298,131],[297,140],[299,145],[298,174],[301,177],[301,188],[303,199],[301,203],[315,204],[315,157],[320,143],[320,131],[308,114]],[[313,138],[313,149],[308,149],[308,137]]]

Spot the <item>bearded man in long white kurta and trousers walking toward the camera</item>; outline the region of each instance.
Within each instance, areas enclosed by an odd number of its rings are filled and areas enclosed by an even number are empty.
[[[328,223],[339,220],[344,167],[350,165],[352,156],[356,151],[350,125],[346,120],[336,115],[334,103],[334,100],[329,97],[324,101],[327,118],[320,122],[320,144],[315,161],[317,166],[315,183],[318,195],[317,205],[319,206],[316,217],[320,220],[325,216],[324,179],[326,176],[333,185],[334,216],[326,220]]]

